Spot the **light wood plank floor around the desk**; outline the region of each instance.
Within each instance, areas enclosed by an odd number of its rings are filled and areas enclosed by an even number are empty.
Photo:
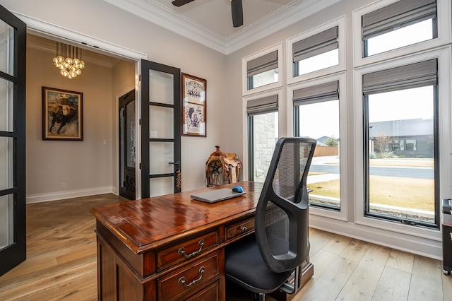
[[[102,194],[28,205],[28,259],[0,277],[0,300],[97,300],[89,210],[119,201]],[[452,300],[441,261],[315,229],[309,240],[314,277],[294,300]]]

